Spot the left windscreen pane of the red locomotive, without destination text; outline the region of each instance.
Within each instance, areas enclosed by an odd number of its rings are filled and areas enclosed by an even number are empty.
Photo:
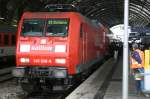
[[[42,36],[44,31],[44,20],[26,19],[22,26],[22,36]]]

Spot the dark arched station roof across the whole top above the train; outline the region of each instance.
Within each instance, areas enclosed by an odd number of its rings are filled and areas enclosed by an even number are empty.
[[[18,9],[23,7],[21,10],[27,6],[38,9],[46,4],[73,4],[87,17],[97,19],[108,27],[123,24],[124,21],[124,0],[0,0],[1,4],[2,1],[8,2],[8,9],[11,9],[9,5],[14,5]],[[150,0],[129,0],[129,25],[150,26]]]

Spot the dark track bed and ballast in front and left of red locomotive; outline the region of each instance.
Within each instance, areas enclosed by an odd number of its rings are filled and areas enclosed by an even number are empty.
[[[11,74],[12,69],[13,67],[0,69],[0,85],[3,86],[0,90],[0,99],[64,99],[66,95],[79,85],[79,83],[76,84],[66,92],[27,94],[16,84]]]

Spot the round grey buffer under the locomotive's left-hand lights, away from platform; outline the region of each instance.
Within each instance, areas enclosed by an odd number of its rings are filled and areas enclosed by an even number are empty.
[[[12,71],[12,75],[14,77],[24,77],[25,74],[25,68],[15,68]]]

